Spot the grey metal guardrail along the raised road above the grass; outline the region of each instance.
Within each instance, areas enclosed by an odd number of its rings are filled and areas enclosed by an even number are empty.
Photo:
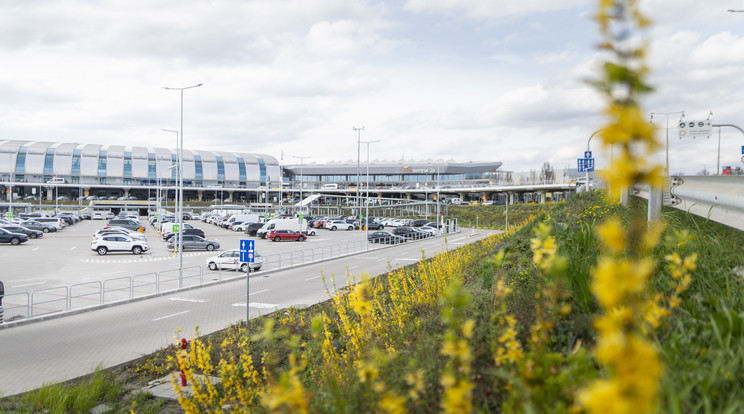
[[[648,199],[650,191],[636,187],[635,194]],[[664,195],[664,205],[744,230],[744,176],[674,176]]]

